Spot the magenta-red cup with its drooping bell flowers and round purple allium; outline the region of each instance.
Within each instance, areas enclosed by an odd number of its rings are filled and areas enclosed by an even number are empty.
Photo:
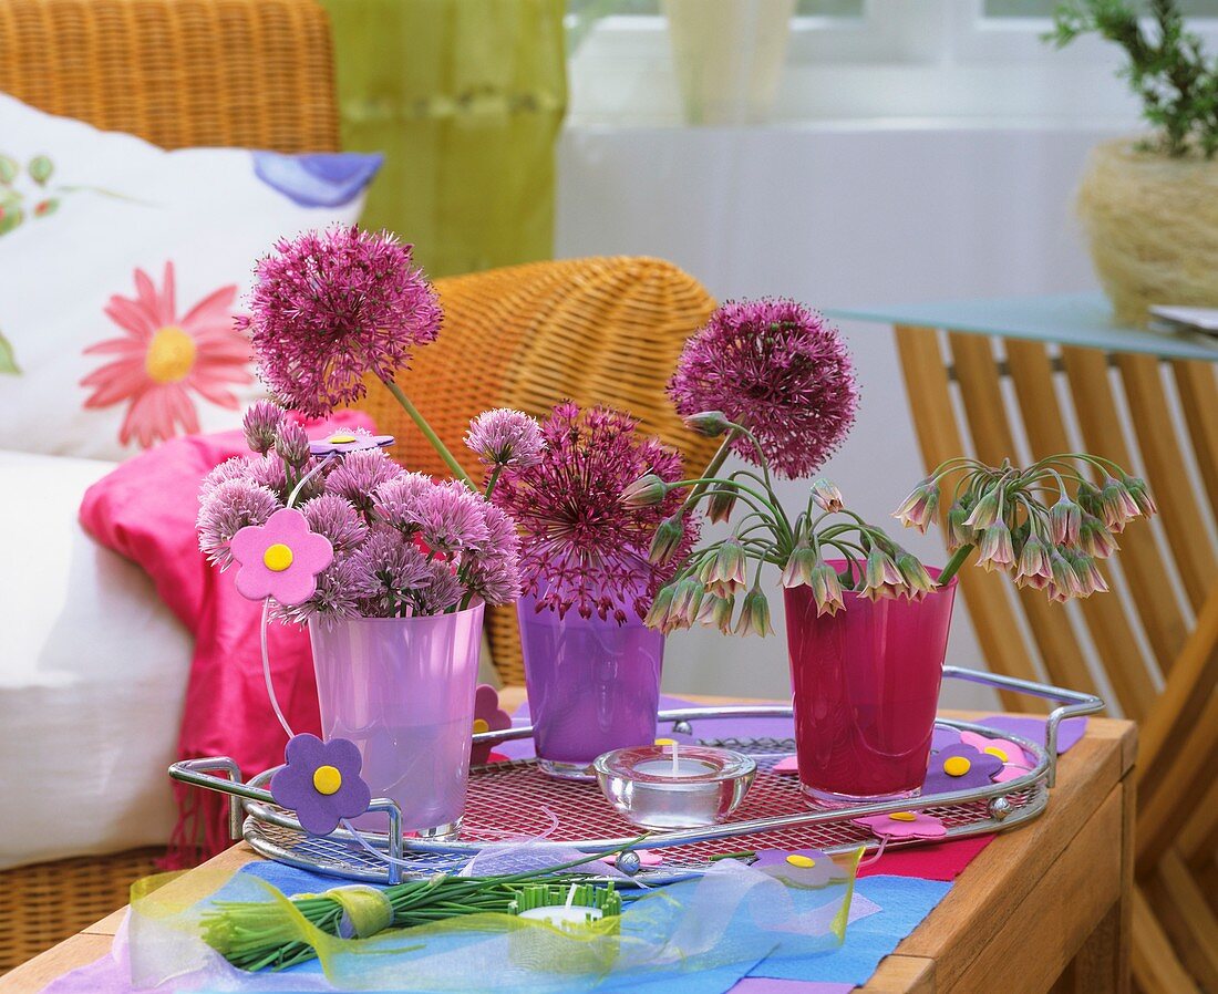
[[[759,471],[721,475],[716,457],[695,478],[644,475],[622,495],[632,506],[686,495],[652,543],[655,562],[680,563],[648,615],[661,631],[702,622],[725,633],[770,633],[761,576],[766,568],[780,571],[800,783],[823,806],[921,791],[955,577],[970,558],[1056,601],[1088,597],[1106,590],[1096,560],[1116,549],[1113,532],[1156,509],[1141,480],[1106,459],[1071,453],[1026,469],[952,459],[918,484],[895,516],[924,531],[940,492],[952,495],[945,515],[952,554],[942,569],[926,568],[849,510],[825,480],[811,484],[790,514],[773,476],[780,469],[797,475],[849,426],[855,393],[848,370],[836,333],[805,308],[789,301],[726,305],[691,339],[670,391],[678,408],[713,400],[731,407],[731,417],[710,409],[687,413],[687,423],[722,436],[722,454],[745,446]],[[677,529],[703,502],[710,519],[732,531],[682,553]],[[968,775],[968,766],[946,770],[948,782]]]

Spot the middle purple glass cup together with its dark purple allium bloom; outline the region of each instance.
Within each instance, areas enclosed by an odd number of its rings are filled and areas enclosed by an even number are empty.
[[[682,497],[627,506],[619,496],[644,473],[676,482],[681,457],[639,437],[626,414],[570,402],[542,421],[541,442],[496,464],[492,446],[470,440],[493,467],[491,499],[521,530],[516,614],[538,763],[551,776],[590,780],[602,753],[655,737],[664,635],[643,619],[678,557],[648,553]],[[683,553],[698,535],[692,516],[678,532]]]

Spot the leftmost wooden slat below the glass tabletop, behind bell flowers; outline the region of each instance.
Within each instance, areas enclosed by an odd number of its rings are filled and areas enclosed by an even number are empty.
[[[951,409],[951,387],[938,335],[933,328],[907,326],[898,326],[895,334],[909,396],[917,398],[910,407],[922,460],[933,468],[965,451]],[[1002,582],[1001,577],[977,569],[960,574],[960,590],[990,668],[1007,676],[1035,680],[1037,668],[1023,641],[1009,635],[1018,629]],[[1034,707],[1021,694],[1001,692],[999,697],[1006,708]]]

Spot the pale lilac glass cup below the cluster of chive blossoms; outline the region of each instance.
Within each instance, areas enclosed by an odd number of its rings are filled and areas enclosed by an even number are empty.
[[[402,809],[402,828],[460,826],[474,733],[482,605],[420,618],[309,621],[322,736],[359,748],[373,797]],[[385,831],[384,815],[357,828]]]

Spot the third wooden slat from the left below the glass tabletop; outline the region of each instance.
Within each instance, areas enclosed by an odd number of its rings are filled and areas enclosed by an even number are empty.
[[[1006,361],[1032,458],[1069,452],[1069,436],[1054,389],[1049,351],[1041,342],[1011,340],[1006,344]],[[1111,587],[1112,570],[1101,563],[1100,571]],[[1121,602],[1116,597],[1088,597],[1079,607],[1122,710],[1129,717],[1144,717],[1155,699],[1156,689]],[[1052,672],[1052,668],[1050,671]],[[1061,677],[1055,675],[1055,679],[1060,679],[1063,686],[1095,692],[1090,672],[1086,672],[1085,679],[1065,672]]]

